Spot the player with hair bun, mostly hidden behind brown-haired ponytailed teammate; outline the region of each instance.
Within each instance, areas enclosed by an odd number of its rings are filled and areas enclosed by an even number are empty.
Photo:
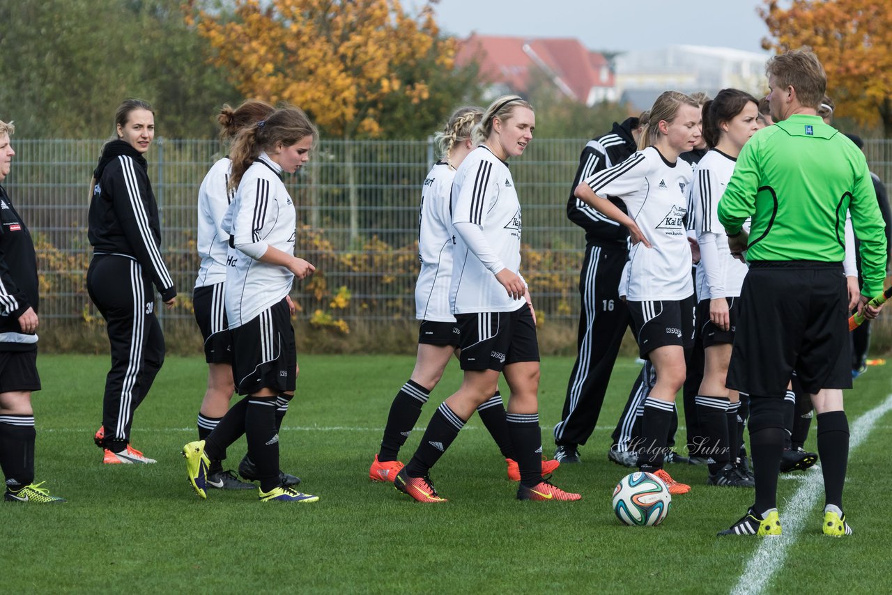
[[[253,126],[275,111],[269,103],[248,99],[235,110],[224,105],[218,114],[220,139],[227,145],[246,126]],[[198,439],[204,440],[217,427],[229,409],[235,393],[232,379],[232,337],[224,304],[226,292],[229,234],[223,217],[234,192],[227,186],[232,160],[223,157],[213,164],[198,190],[198,255],[202,262],[193,291],[193,309],[204,341],[208,363],[208,387],[198,412]],[[224,471],[221,461],[211,460],[208,486],[224,490],[250,490],[253,483],[240,482],[232,471]]]

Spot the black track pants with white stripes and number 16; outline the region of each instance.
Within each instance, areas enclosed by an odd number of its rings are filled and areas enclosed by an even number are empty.
[[[585,249],[579,276],[579,351],[567,383],[561,421],[555,426],[556,444],[584,444],[598,423],[616,355],[629,325],[629,312],[619,299],[618,289],[625,260],[622,247],[590,244]]]

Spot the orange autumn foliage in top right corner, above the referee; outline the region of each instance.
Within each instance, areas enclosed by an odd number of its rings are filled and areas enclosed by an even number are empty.
[[[765,49],[809,47],[827,71],[836,112],[892,137],[892,3],[888,0],[764,0]],[[787,4],[787,3],[784,3]]]

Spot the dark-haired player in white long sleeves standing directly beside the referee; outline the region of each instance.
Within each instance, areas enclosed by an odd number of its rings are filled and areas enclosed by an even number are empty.
[[[753,478],[738,461],[739,393],[725,387],[747,265],[731,255],[718,220],[718,203],[740,149],[759,129],[758,115],[756,98],[738,89],[723,89],[704,105],[703,135],[712,149],[698,162],[690,193],[700,244],[697,332],[705,351],[703,380],[694,398],[703,435],[695,446],[706,458],[709,485],[753,486]]]

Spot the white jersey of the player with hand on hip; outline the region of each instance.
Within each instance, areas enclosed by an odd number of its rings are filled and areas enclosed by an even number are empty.
[[[691,175],[688,163],[665,161],[650,146],[585,179],[595,194],[622,199],[629,216],[653,246],[639,243],[629,252],[626,297],[630,301],[676,301],[694,293],[690,244],[683,222]]]

